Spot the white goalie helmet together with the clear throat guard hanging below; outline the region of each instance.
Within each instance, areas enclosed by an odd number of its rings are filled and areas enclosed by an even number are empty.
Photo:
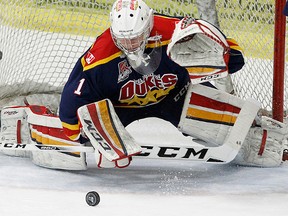
[[[153,9],[142,0],[117,0],[110,13],[110,31],[115,45],[125,53],[134,70],[142,75],[153,73],[161,58],[160,49],[149,55],[144,53],[153,19]]]

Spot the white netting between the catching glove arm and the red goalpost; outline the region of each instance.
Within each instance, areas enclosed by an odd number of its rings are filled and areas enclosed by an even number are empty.
[[[272,109],[274,0],[217,1],[220,26],[244,49],[245,66],[232,76],[241,98],[253,97]]]

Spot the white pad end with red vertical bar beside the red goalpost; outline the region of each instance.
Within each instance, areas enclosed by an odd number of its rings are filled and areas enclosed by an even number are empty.
[[[285,124],[263,116],[261,127],[250,129],[234,163],[245,166],[275,167],[282,162]]]

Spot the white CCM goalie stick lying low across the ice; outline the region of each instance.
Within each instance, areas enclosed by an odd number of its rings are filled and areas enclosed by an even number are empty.
[[[151,145],[139,143],[142,151],[135,156],[151,159],[180,159],[210,163],[229,163],[238,154],[259,108],[260,104],[258,102],[247,100],[244,103],[228,138],[221,146],[205,147],[197,143],[187,146],[165,146],[161,144]],[[91,146],[0,143],[0,150],[2,149],[87,153],[93,153],[95,151]]]

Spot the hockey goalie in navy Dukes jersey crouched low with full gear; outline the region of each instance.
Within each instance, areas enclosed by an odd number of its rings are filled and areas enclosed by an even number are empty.
[[[29,97],[26,105],[2,109],[5,154],[30,157],[43,167],[85,170],[86,154],[80,150],[92,146],[98,167],[123,168],[139,154],[157,156],[126,129],[134,121],[156,117],[191,140],[201,140],[181,158],[200,149],[201,157],[191,161],[281,164],[286,125],[260,116],[257,101],[230,94],[227,77],[244,65],[235,40],[204,20],[155,14],[142,0],[117,0],[110,19],[111,27],[75,64],[59,113]],[[71,149],[20,151],[26,144]]]

